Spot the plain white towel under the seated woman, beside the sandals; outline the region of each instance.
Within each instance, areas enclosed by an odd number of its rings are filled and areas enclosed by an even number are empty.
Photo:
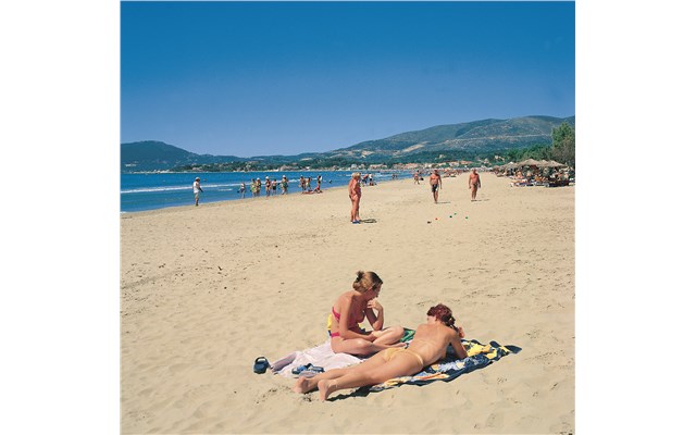
[[[335,353],[331,350],[331,340],[304,350],[296,350],[271,363],[271,371],[285,377],[295,377],[293,369],[312,364],[324,371],[340,369],[362,362],[361,358],[348,353]]]

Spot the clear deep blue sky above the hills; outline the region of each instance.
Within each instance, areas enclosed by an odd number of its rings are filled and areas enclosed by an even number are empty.
[[[573,2],[121,3],[121,142],[287,156],[574,114]]]

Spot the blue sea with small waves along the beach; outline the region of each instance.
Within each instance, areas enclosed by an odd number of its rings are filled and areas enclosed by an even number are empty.
[[[351,171],[303,171],[303,172],[196,172],[196,173],[138,173],[121,174],[121,212],[157,210],[166,207],[192,206],[194,181],[200,177],[203,189],[199,203],[233,201],[241,199],[239,186],[247,185],[246,198],[251,198],[251,179],[268,176],[276,178],[281,195],[281,178],[285,175],[289,182],[288,195],[299,195],[300,176],[312,177],[312,188],[316,187],[316,177],[322,175],[322,190],[348,186]],[[395,172],[372,172],[375,183],[391,181]],[[406,172],[396,172],[402,178]],[[363,173],[364,175],[364,173]],[[265,196],[262,187],[261,196]]]

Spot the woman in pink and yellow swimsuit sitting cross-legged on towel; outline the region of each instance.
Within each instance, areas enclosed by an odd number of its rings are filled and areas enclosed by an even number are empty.
[[[382,279],[374,272],[358,272],[352,290],[336,299],[328,314],[328,336],[334,352],[371,355],[390,347],[403,347],[398,343],[403,336],[401,326],[384,328],[384,308],[377,302]],[[365,318],[373,331],[359,326]]]

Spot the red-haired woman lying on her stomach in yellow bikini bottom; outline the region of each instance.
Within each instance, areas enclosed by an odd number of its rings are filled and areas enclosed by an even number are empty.
[[[399,376],[410,376],[443,358],[451,345],[458,359],[467,358],[461,344],[464,332],[455,326],[452,311],[438,303],[427,310],[427,323],[418,327],[408,348],[380,351],[362,363],[347,369],[334,369],[314,377],[300,376],[293,390],[309,393],[319,388],[319,398],[326,400],[334,391],[376,385]]]

